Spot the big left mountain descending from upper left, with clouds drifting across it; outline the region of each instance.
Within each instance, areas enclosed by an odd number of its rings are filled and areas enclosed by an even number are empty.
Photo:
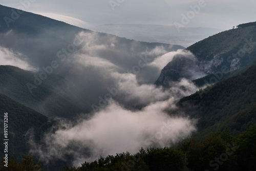
[[[116,88],[112,72],[139,69],[136,79],[154,82],[159,69],[147,63],[184,49],[93,32],[1,5],[0,18],[1,65],[26,70],[1,66],[0,92],[48,117],[72,118],[100,108]]]

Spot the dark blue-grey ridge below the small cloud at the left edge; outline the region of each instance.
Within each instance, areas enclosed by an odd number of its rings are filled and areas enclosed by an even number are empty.
[[[81,99],[82,104],[76,103],[66,92],[71,90],[73,95],[78,92],[60,75],[49,75],[36,91],[30,93],[27,83],[34,81],[33,75],[33,72],[17,67],[0,66],[0,93],[49,117],[70,118],[74,113],[89,112],[89,99]],[[93,99],[90,101],[93,102]]]

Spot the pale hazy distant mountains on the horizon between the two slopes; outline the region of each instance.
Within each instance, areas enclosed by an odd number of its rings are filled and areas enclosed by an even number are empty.
[[[138,41],[162,42],[184,47],[188,47],[205,37],[224,31],[222,29],[203,27],[180,28],[177,31],[175,26],[143,24],[108,24],[97,26],[93,30]]]

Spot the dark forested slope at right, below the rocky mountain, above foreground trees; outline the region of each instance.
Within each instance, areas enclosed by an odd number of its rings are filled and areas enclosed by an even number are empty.
[[[199,137],[212,131],[220,131],[225,126],[230,127],[233,134],[237,134],[250,121],[255,122],[255,72],[254,65],[242,74],[222,80],[177,103],[180,111],[199,119]]]

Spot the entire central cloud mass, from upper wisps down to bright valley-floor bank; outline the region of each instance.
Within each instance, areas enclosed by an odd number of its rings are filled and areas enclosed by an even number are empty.
[[[99,95],[104,102],[95,103],[97,110],[90,114],[77,115],[76,121],[60,120],[40,143],[31,137],[31,152],[41,161],[60,159],[77,166],[99,156],[171,145],[196,131],[194,120],[180,113],[170,116],[166,111],[175,109],[181,97],[198,88],[184,78],[170,89],[147,80],[156,80],[176,54],[188,52],[166,53],[161,46],[148,50],[138,41],[127,46],[126,39],[100,33],[81,32],[78,36],[83,42],[65,60],[66,83],[76,84],[78,95],[79,91]]]

